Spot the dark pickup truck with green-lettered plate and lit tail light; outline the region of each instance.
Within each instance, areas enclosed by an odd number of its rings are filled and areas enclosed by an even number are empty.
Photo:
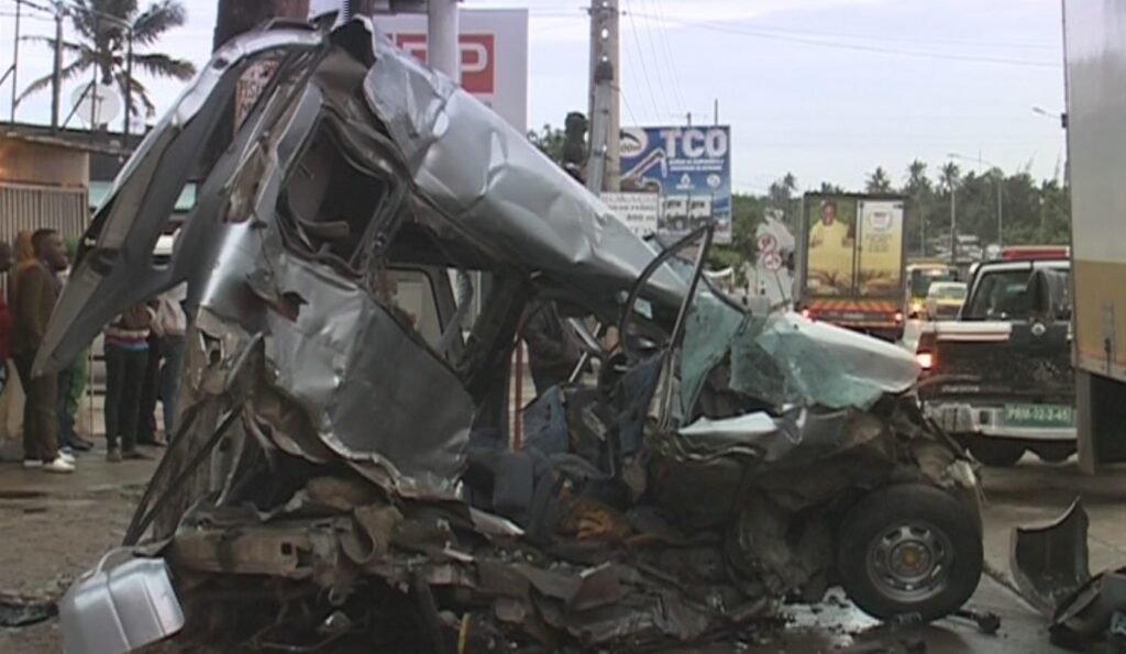
[[[986,465],[1075,451],[1070,268],[1066,259],[982,263],[958,319],[919,339],[927,414]]]

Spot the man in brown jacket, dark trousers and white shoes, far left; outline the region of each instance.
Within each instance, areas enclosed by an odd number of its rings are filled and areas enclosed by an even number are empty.
[[[59,451],[57,375],[32,377],[59,297],[60,270],[66,268],[63,243],[55,230],[32,234],[35,261],[21,267],[12,298],[12,355],[27,398],[24,403],[24,467],[51,473],[74,472],[74,459]]]

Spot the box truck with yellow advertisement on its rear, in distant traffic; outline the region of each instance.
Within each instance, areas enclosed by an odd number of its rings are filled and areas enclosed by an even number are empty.
[[[906,206],[900,195],[805,195],[797,304],[806,317],[902,337]]]

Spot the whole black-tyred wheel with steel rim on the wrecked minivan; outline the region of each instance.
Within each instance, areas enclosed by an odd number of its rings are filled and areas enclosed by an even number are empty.
[[[866,613],[929,622],[957,610],[977,589],[982,534],[954,495],[923,484],[876,491],[839,531],[837,571]]]

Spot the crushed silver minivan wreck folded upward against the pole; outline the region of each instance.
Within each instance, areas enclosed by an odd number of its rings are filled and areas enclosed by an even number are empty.
[[[232,126],[247,71],[269,81]],[[232,42],[98,210],[37,362],[188,284],[180,427],[124,558],[64,598],[66,651],[184,616],[177,638],[252,649],[653,649],[833,584],[881,618],[956,610],[978,490],[913,359],[732,304],[701,280],[709,241],[636,239],[363,19]],[[538,397],[512,448],[534,298],[577,319],[597,374]]]

